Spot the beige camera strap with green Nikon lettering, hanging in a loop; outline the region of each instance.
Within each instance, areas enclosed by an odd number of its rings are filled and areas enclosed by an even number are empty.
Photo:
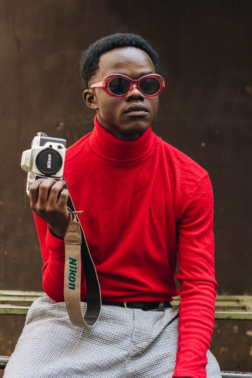
[[[101,312],[101,291],[82,225],[69,195],[68,208],[73,215],[65,235],[64,298],[73,325],[91,328]],[[83,317],[81,308],[81,261],[87,286],[87,310]]]

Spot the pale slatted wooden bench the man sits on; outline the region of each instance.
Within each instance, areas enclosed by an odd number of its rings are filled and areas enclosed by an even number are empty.
[[[38,297],[44,292],[0,290],[0,314],[25,315]],[[172,305],[179,304],[175,297]],[[252,295],[217,295],[215,319],[252,320]],[[0,356],[0,369],[4,369],[10,357]],[[222,371],[222,378],[252,378],[252,372]]]

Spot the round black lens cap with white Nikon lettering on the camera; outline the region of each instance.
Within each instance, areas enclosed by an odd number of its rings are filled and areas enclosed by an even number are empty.
[[[36,165],[40,172],[46,176],[52,176],[62,166],[61,155],[52,148],[45,148],[36,157]]]

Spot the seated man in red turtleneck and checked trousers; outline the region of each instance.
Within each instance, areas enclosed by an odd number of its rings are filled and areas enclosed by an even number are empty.
[[[208,351],[214,322],[213,198],[207,172],[151,131],[164,80],[141,37],[114,34],[81,61],[94,131],[68,149],[65,181],[30,188],[44,260],[43,288],[7,377],[220,378]],[[96,265],[97,324],[71,324],[64,303],[64,240],[71,193]],[[178,256],[181,302],[174,275]],[[81,298],[86,298],[85,267]],[[85,310],[86,303],[82,303]],[[32,366],[27,368],[27,359]]]

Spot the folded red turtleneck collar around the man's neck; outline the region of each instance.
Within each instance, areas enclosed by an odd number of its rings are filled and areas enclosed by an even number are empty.
[[[134,141],[121,141],[105,130],[98,122],[97,115],[94,118],[94,130],[88,144],[91,150],[106,160],[133,161],[148,154],[153,145],[155,134],[151,127]]]

